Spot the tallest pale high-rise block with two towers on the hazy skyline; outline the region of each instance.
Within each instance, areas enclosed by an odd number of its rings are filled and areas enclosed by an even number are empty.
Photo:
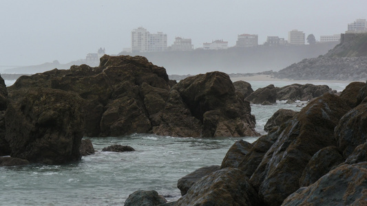
[[[132,30],[132,52],[164,52],[167,50],[167,34],[150,34],[145,28]]]

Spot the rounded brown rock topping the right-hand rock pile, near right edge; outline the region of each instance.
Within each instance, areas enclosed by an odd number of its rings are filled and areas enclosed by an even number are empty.
[[[351,82],[346,86],[346,89],[342,91],[340,94],[340,98],[348,104],[351,108],[354,108],[358,104],[361,103],[361,100],[358,100],[359,91],[366,86],[364,82]]]

